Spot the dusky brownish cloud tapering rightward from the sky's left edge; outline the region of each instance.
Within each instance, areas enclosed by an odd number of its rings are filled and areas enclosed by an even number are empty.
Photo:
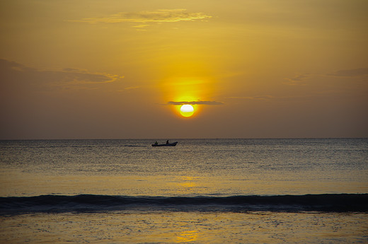
[[[91,88],[93,85],[120,81],[123,76],[91,73],[79,69],[40,70],[0,59],[1,86],[43,88]]]

